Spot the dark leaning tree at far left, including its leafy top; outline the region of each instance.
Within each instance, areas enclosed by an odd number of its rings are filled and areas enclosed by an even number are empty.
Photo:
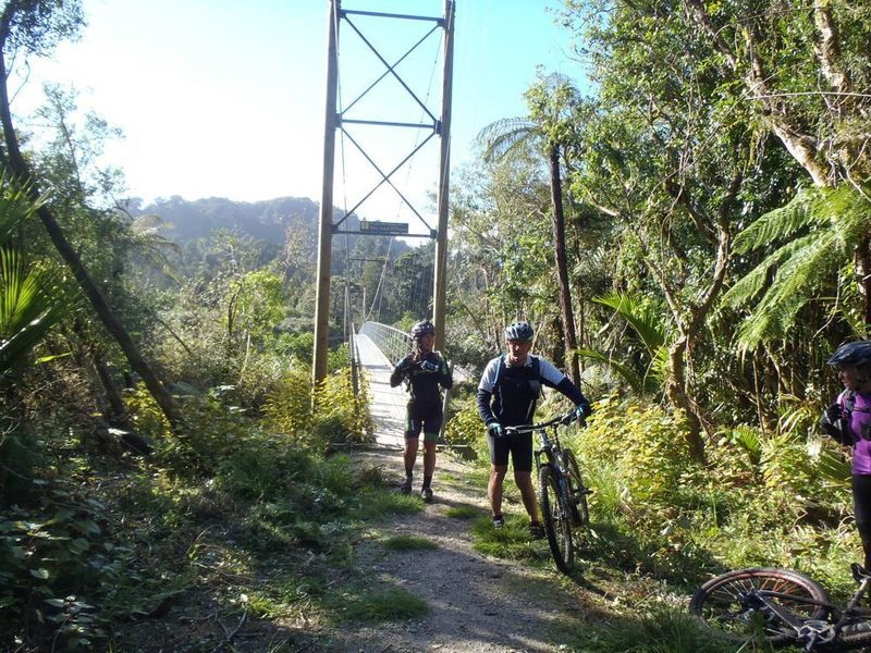
[[[17,136],[12,122],[9,102],[9,69],[7,53],[45,54],[61,39],[78,34],[84,23],[81,2],[70,0],[10,0],[0,15],[0,123],[7,146],[7,165],[14,176],[27,182],[34,201],[40,200],[39,186],[29,165],[22,156]],[[94,283],[75,249],[66,238],[52,211],[41,204],[37,210],[42,225],[54,247],[70,267],[83,292],[90,300],[95,312],[124,352],[131,367],[142,377],[155,401],[170,423],[179,421],[175,403],[163,387],[151,367],[142,356],[138,347],[124,325],[106,301],[99,287]]]

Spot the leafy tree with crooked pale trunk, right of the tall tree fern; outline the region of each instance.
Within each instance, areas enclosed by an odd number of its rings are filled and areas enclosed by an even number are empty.
[[[667,307],[665,394],[686,414],[701,459],[711,429],[695,362],[727,280],[733,232],[766,201],[748,193],[747,173],[770,165],[771,148],[674,2],[566,7],[596,84],[577,116],[573,194],[622,225],[615,287]]]

